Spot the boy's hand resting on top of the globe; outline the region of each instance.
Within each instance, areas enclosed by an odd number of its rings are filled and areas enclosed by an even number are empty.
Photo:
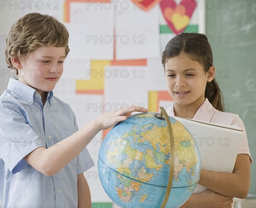
[[[96,123],[99,124],[99,130],[108,129],[120,121],[125,121],[131,116],[132,112],[148,112],[148,109],[140,106],[129,106],[128,109],[120,109],[117,112],[104,113],[96,118]]]

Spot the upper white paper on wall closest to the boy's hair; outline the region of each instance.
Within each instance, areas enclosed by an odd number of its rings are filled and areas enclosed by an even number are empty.
[[[114,10],[110,6],[111,2],[70,3],[72,59],[113,59]]]

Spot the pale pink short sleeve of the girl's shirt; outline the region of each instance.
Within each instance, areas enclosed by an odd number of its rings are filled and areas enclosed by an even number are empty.
[[[243,121],[241,120],[241,118],[238,115],[236,115],[230,125],[238,126],[243,130],[241,142],[240,142],[240,145],[239,145],[238,154],[247,154],[250,157],[250,163],[252,163],[253,159],[250,155],[250,150],[249,150],[249,145],[248,145],[248,140],[247,140],[247,134],[246,134],[246,130],[245,130]]]

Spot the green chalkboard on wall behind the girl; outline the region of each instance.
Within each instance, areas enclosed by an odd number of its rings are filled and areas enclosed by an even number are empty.
[[[251,165],[250,194],[256,194],[256,1],[206,1],[206,35],[225,110],[244,121]]]

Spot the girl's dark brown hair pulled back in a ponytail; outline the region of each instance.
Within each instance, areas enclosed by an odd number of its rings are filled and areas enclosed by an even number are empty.
[[[164,70],[169,58],[175,57],[181,52],[188,54],[193,61],[198,61],[203,65],[205,72],[208,72],[209,68],[213,66],[212,49],[204,34],[181,33],[172,38],[167,43],[162,55]],[[215,78],[211,82],[207,82],[204,97],[208,98],[215,109],[224,112],[223,96]]]

